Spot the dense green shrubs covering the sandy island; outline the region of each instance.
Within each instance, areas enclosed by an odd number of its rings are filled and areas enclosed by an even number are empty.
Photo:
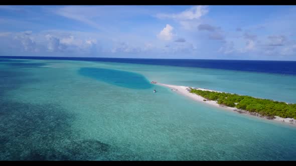
[[[219,104],[236,107],[250,112],[258,112],[263,116],[274,118],[296,118],[296,104],[273,101],[271,99],[254,98],[247,95],[238,95],[225,92],[198,90],[191,88],[191,93],[196,93],[209,100],[218,101]]]

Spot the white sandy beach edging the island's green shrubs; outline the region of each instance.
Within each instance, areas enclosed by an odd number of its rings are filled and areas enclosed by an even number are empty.
[[[206,98],[204,98],[204,97],[202,97],[202,96],[200,96],[198,94],[191,93],[189,91],[189,89],[190,89],[189,86],[179,86],[179,85],[171,85],[171,84],[164,84],[164,83],[155,83],[155,84],[162,85],[162,86],[165,86],[165,87],[170,87],[171,90],[176,91],[179,94],[188,96],[193,100],[203,102],[203,103],[207,103],[207,104],[210,104],[210,105],[215,106],[215,107],[224,108],[224,109],[227,109],[227,110],[230,110],[230,111],[235,111],[237,113],[243,113],[243,114],[247,114],[247,115],[250,115],[250,116],[256,116],[256,117],[259,117],[259,118],[274,120],[276,122],[281,122],[281,123],[289,124],[289,125],[292,125],[292,126],[296,126],[296,119],[293,119],[293,118],[283,118],[283,117],[279,117],[279,116],[274,116],[275,118],[269,119],[266,116],[261,116],[259,113],[256,113],[256,112],[249,112],[249,111],[246,111],[246,110],[238,109],[236,107],[229,107],[229,106],[220,105],[220,104],[217,103],[217,101],[207,100]],[[204,89],[204,88],[196,88],[196,89],[207,90],[207,91],[216,91],[216,90],[210,90],[210,89]],[[216,92],[221,92],[221,91],[216,91]],[[204,100],[206,100],[206,101],[204,101]]]

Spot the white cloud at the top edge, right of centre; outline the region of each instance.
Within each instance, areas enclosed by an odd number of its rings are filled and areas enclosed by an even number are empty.
[[[158,18],[173,18],[173,19],[180,19],[180,20],[191,20],[191,19],[199,19],[201,16],[208,13],[208,6],[204,5],[197,5],[193,6],[185,11],[180,13],[171,13],[171,14],[164,14],[160,13],[157,14]]]

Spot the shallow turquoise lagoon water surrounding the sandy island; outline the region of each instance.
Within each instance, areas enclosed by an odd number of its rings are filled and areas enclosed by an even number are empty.
[[[67,60],[0,68],[1,160],[296,159],[296,127],[149,83],[296,102],[295,76]]]

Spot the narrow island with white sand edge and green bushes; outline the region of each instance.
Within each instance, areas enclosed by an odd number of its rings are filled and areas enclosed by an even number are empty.
[[[296,104],[294,103],[255,98],[248,95],[232,94],[205,88],[157,84],[174,88],[178,93],[214,106],[296,125]]]

